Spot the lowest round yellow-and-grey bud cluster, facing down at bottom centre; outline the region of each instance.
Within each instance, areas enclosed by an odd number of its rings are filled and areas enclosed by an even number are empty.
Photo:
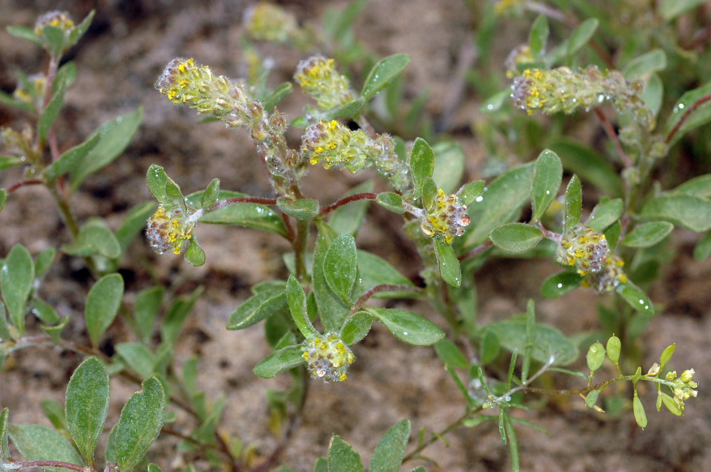
[[[346,380],[348,366],[355,359],[353,351],[334,333],[309,337],[301,344],[301,350],[311,377],[323,378],[325,382]]]

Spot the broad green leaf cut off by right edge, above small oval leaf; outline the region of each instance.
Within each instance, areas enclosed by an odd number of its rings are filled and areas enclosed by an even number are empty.
[[[700,233],[711,229],[711,202],[690,195],[661,195],[639,213],[644,219],[664,219]]]

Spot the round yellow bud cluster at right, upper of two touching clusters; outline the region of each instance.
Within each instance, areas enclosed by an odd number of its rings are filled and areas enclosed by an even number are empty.
[[[560,239],[557,260],[564,265],[574,265],[577,273],[597,273],[607,267],[610,248],[604,234],[576,224]]]

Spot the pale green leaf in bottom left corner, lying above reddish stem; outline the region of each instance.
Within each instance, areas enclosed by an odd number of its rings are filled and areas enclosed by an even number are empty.
[[[40,424],[10,424],[9,437],[26,461],[61,461],[83,466],[75,449],[54,429]],[[58,467],[43,467],[44,471],[65,472]]]

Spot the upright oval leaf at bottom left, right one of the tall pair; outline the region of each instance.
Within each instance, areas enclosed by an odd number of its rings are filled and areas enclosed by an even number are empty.
[[[158,437],[163,427],[166,395],[155,377],[141,383],[121,410],[116,427],[116,460],[122,471],[130,471]]]

